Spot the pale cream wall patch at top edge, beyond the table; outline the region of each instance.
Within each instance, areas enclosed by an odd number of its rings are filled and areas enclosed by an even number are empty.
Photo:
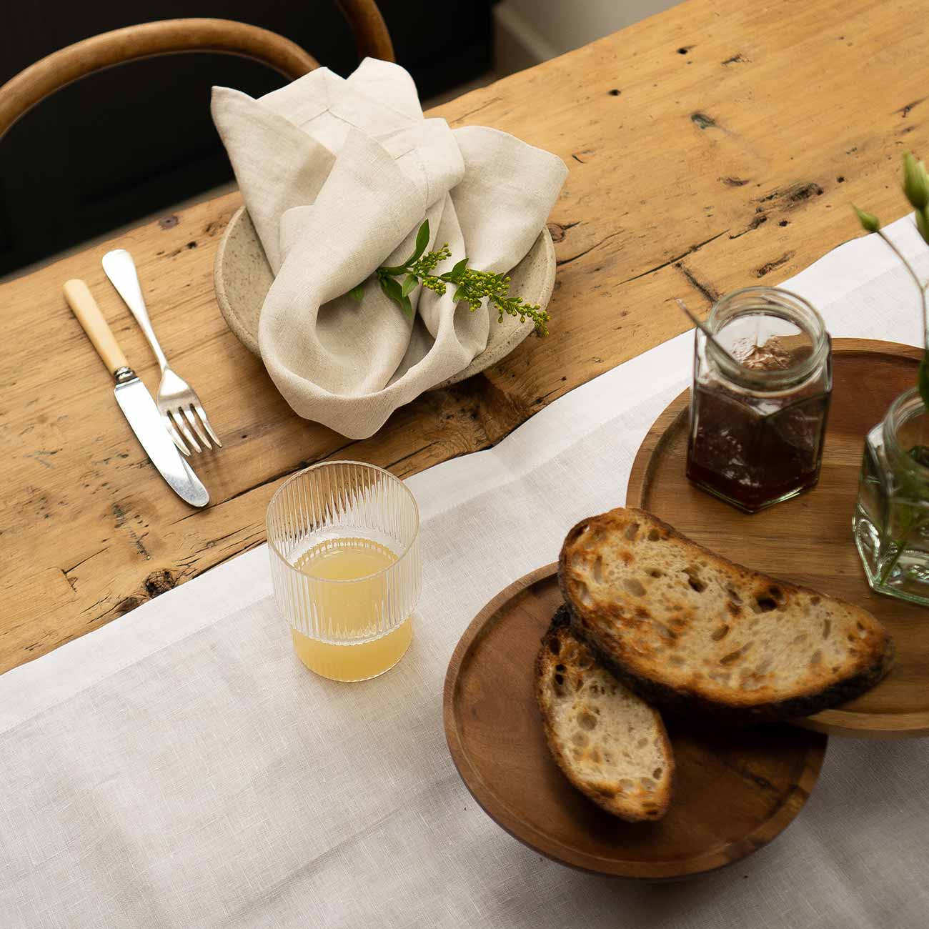
[[[504,0],[494,7],[498,30],[530,59],[562,55],[679,0]]]

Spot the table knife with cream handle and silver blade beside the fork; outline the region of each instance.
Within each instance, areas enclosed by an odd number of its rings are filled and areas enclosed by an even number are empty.
[[[64,296],[72,313],[84,327],[87,337],[97,349],[97,354],[116,380],[113,393],[116,402],[136,433],[151,464],[167,481],[171,490],[191,506],[205,506],[210,495],[203,483],[184,459],[162,424],[162,417],[151,399],[146,386],[129,367],[123,349],[119,347],[107,321],[97,306],[97,301],[84,281],[66,281]]]

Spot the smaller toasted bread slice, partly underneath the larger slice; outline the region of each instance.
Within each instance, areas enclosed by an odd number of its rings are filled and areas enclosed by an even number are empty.
[[[596,660],[565,607],[542,640],[535,682],[548,747],[569,781],[630,822],[664,816],[674,757],[661,716]]]

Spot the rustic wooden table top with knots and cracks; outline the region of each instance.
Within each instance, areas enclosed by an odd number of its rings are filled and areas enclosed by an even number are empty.
[[[0,672],[261,543],[268,499],[294,470],[355,458],[406,476],[487,448],[681,332],[674,295],[706,311],[718,294],[777,284],[857,235],[853,201],[902,215],[900,154],[926,143],[924,13],[919,0],[690,0],[433,111],[569,165],[550,222],[552,334],[365,441],[295,416],[226,328],[213,260],[238,194],[121,237],[168,357],[225,441],[198,463],[203,512],[164,487],[61,295],[87,281],[153,393],[154,360],[100,268],[112,246],[4,284]]]

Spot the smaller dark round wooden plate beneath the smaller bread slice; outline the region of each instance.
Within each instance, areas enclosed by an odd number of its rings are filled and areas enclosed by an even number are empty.
[[[548,752],[535,702],[535,658],[560,603],[556,566],[533,571],[481,611],[451,656],[445,736],[485,812],[561,864],[652,880],[721,868],[783,831],[826,753],[825,736],[792,726],[669,726],[674,799],[659,822],[623,822],[571,787]]]

